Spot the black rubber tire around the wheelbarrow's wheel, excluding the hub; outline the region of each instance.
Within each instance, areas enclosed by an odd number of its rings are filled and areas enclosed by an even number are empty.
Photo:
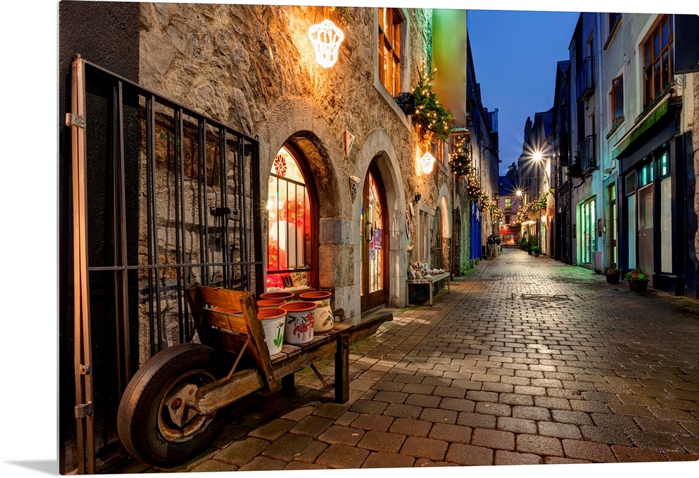
[[[124,448],[149,465],[170,467],[193,458],[221,433],[224,420],[212,416],[201,430],[178,441],[168,440],[158,426],[164,394],[183,375],[197,382],[218,377],[214,350],[201,344],[173,345],[138,369],[124,390],[117,413],[117,432]],[[185,382],[191,382],[187,379]]]

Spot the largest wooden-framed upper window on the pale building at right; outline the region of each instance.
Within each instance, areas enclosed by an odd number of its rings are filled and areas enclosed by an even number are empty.
[[[642,45],[644,59],[643,106],[658,98],[672,81],[674,51],[674,17],[663,15]]]

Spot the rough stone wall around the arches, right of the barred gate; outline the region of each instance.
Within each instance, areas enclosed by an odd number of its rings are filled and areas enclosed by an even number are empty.
[[[410,25],[410,85],[429,66],[431,11],[403,10]],[[257,137],[261,196],[280,147],[308,159],[320,217],[319,286],[334,306],[359,316],[359,205],[350,175],[377,159],[387,190],[389,305],[403,305],[405,209],[415,191],[435,211],[449,176],[417,169],[423,151],[410,120],[376,87],[375,8],[140,3],[140,79],[145,87]],[[308,27],[329,17],[345,34],[338,62],[315,61]],[[354,147],[345,155],[345,131]],[[377,134],[380,133],[380,134]],[[359,185],[361,191],[361,184]],[[358,195],[359,196],[359,195]],[[266,242],[266,239],[264,239]],[[266,250],[266,244],[263,245]]]

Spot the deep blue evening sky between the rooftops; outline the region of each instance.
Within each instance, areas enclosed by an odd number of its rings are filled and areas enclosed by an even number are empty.
[[[554,104],[556,62],[568,59],[575,12],[468,10],[468,36],[483,106],[498,108],[500,173],[522,151],[529,116]]]

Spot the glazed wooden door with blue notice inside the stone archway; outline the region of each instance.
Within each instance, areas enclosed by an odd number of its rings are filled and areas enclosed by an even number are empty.
[[[364,179],[361,201],[361,312],[386,303],[389,251],[384,185],[375,161]]]

